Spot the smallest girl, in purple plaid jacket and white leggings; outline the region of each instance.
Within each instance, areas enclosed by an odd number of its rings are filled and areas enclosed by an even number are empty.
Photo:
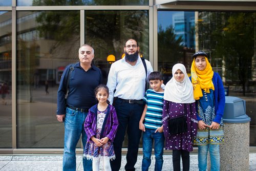
[[[95,89],[98,103],[90,108],[84,121],[84,130],[87,134],[87,143],[83,157],[92,159],[93,170],[99,170],[100,159],[103,161],[103,169],[111,170],[110,160],[115,159],[113,140],[115,138],[118,119],[114,106],[108,101],[109,89],[100,84]]]

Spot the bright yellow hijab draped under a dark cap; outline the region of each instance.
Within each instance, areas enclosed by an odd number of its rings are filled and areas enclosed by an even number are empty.
[[[202,89],[206,93],[209,93],[210,89],[214,90],[214,83],[212,82],[214,71],[212,71],[210,63],[206,56],[206,68],[203,71],[197,69],[195,59],[196,58],[194,58],[191,65],[191,81],[194,89],[194,98],[196,100],[199,100],[200,97],[203,97]]]

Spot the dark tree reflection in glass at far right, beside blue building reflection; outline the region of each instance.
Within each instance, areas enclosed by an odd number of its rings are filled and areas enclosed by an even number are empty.
[[[222,75],[229,96],[246,100],[251,117],[250,145],[256,145],[256,13],[199,12],[199,49],[210,55],[212,68]]]

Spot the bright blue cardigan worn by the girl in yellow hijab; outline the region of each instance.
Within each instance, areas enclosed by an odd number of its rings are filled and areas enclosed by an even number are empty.
[[[190,77],[190,80],[191,80],[191,77]],[[215,119],[212,121],[221,123],[222,116],[224,114],[224,108],[225,108],[225,91],[224,91],[221,77],[218,73],[214,72],[214,76],[212,77],[212,82],[214,83],[214,88],[215,88],[214,100],[215,100],[215,114],[216,114]],[[198,116],[198,113],[197,113],[197,120],[198,121],[202,120]]]

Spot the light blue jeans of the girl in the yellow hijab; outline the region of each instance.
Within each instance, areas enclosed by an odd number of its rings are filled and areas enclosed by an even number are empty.
[[[207,167],[207,153],[210,152],[210,170],[220,170],[220,151],[219,144],[198,145],[198,168],[205,171]]]

